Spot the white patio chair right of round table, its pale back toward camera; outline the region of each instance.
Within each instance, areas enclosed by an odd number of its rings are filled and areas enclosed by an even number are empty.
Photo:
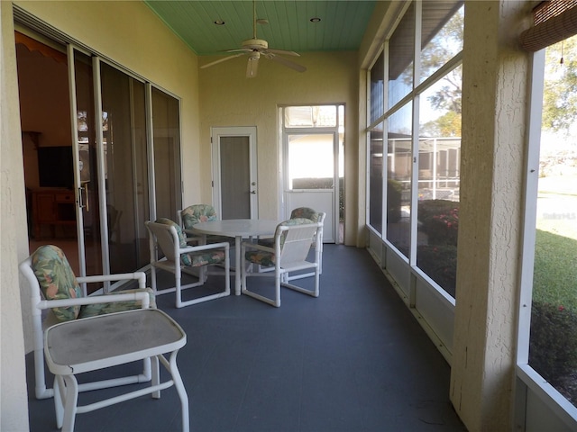
[[[250,241],[243,242],[242,257],[251,265],[270,267],[270,272],[248,272],[247,266],[241,266],[242,293],[269,303],[280,306],[280,287],[286,287],[299,293],[306,293],[313,297],[319,294],[320,275],[320,247],[321,236],[319,229],[322,225],[308,219],[290,219],[281,222],[277,226],[274,235],[273,247],[262,246]],[[307,261],[310,248],[315,241],[315,254],[313,261]],[[315,287],[310,290],[289,284],[290,272],[313,269]],[[255,293],[247,287],[247,277],[270,277],[274,278],[274,296],[272,298]]]

